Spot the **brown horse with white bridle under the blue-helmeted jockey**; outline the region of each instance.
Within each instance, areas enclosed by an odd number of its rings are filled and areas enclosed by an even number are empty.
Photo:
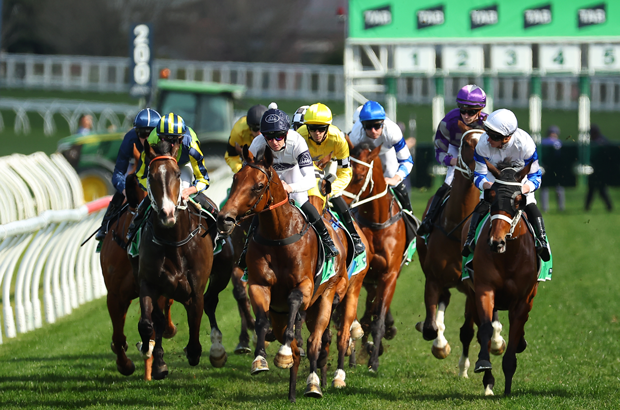
[[[370,264],[364,279],[367,297],[366,311],[360,321],[364,330],[362,341],[367,341],[369,333],[372,334],[373,343],[367,344],[368,367],[376,372],[383,353],[383,337],[391,339],[396,334],[390,304],[403,263],[407,234],[398,203],[383,177],[379,158],[381,146],[372,149],[368,144],[358,144],[354,147],[348,142],[353,178],[345,197],[368,241],[366,252]]]

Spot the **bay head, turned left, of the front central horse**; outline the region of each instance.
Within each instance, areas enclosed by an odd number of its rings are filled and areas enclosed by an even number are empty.
[[[266,147],[255,157],[244,145],[241,156],[245,164],[233,177],[230,196],[217,218],[217,227],[224,235],[232,232],[240,218],[267,208],[274,201],[274,193],[281,195],[280,191],[284,191],[278,174],[271,167],[271,149]]]

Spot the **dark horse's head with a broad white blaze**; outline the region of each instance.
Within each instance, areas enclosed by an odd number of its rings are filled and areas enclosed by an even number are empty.
[[[181,171],[177,164],[179,144],[160,141],[157,145],[144,144],[145,161],[149,164],[148,195],[157,219],[166,228],[176,223],[181,203]]]

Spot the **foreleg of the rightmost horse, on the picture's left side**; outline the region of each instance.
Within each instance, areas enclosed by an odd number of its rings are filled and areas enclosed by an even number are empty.
[[[480,343],[480,353],[478,354],[478,361],[474,367],[474,373],[485,372],[482,382],[485,388],[485,395],[487,396],[493,394],[493,386],[489,383],[490,379],[487,374],[490,374],[493,369],[491,359],[489,357],[489,341],[493,335],[493,325],[491,324],[491,320],[493,317],[494,298],[495,294],[491,288],[486,286],[476,287],[476,307],[480,318],[480,325],[478,327],[478,343]]]

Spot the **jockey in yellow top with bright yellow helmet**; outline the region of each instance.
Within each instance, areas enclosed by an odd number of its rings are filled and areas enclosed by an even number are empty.
[[[332,124],[331,110],[321,103],[313,104],[308,108],[305,115],[305,125],[300,127],[297,132],[307,141],[310,155],[315,161],[331,153],[332,161],[336,161],[338,164],[336,180],[331,183],[329,201],[351,234],[355,246],[355,256],[361,254],[365,250],[364,244],[355,230],[349,207],[342,199],[342,192],[349,185],[353,176],[349,160],[349,144],[344,138],[344,134]],[[319,179],[317,182],[320,183],[320,181]],[[314,186],[308,194],[323,197],[318,186]]]

